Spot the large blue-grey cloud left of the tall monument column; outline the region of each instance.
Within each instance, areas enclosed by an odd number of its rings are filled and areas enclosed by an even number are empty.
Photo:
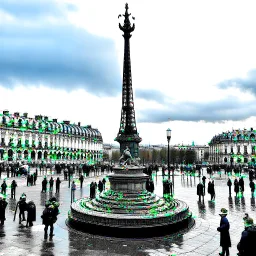
[[[11,1],[14,2],[17,1]],[[17,6],[1,5],[20,20],[0,29],[1,85],[12,88],[22,82],[67,91],[83,88],[99,96],[121,92],[121,74],[112,40],[64,22],[52,0],[19,2],[22,4]],[[36,13],[51,14],[61,23],[33,23]],[[33,26],[24,26],[23,19],[29,19]]]

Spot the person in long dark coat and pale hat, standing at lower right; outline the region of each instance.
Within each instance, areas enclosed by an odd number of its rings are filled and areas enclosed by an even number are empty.
[[[219,213],[221,217],[220,226],[217,228],[217,230],[220,232],[220,246],[222,247],[222,252],[219,253],[219,255],[222,256],[229,256],[229,247],[231,247],[227,214],[228,210],[225,208],[221,208],[221,211]]]

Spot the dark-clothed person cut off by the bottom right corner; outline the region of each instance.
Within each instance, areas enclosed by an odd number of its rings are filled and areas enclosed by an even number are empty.
[[[242,232],[240,242],[237,245],[239,256],[255,255],[256,226],[253,225],[253,219],[244,221],[244,231]]]

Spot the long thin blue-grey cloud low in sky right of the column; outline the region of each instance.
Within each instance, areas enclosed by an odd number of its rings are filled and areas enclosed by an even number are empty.
[[[138,112],[139,122],[162,123],[173,121],[223,122],[245,120],[256,113],[254,102],[227,98],[215,102],[180,102],[168,104],[164,109],[147,109]]]

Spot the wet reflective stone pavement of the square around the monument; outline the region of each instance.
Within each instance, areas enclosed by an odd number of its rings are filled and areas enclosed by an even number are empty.
[[[161,172],[154,176],[155,193],[162,196],[162,177]],[[204,171],[205,173],[205,171]],[[50,175],[48,175],[50,177]],[[56,175],[53,175],[56,178]],[[80,190],[77,185],[76,198],[88,196],[89,184],[93,180],[98,181],[100,177],[86,178],[83,189]],[[2,176],[3,179],[3,176]],[[7,184],[10,185],[13,178],[9,178]],[[49,179],[49,178],[48,178]],[[232,177],[234,180],[234,177]],[[60,194],[54,192],[41,193],[42,177],[37,180],[37,185],[27,187],[26,179],[16,178],[18,183],[16,191],[16,200],[19,199],[22,192],[27,194],[27,201],[33,200],[37,206],[37,220],[34,226],[26,228],[25,222],[18,224],[18,218],[13,222],[13,215],[17,201],[10,199],[8,195],[8,206],[6,210],[6,222],[0,227],[0,256],[1,255],[218,255],[219,247],[219,226],[220,209],[225,207],[229,210],[228,219],[230,222],[230,235],[232,248],[230,255],[236,255],[236,245],[240,240],[243,231],[243,216],[247,212],[256,221],[255,199],[251,198],[248,178],[245,178],[244,197],[235,198],[232,186],[232,197],[228,197],[227,177],[223,174],[220,178],[218,174],[214,176],[216,199],[210,201],[210,195],[206,193],[204,203],[198,202],[196,195],[196,186],[198,177],[175,176],[175,197],[185,201],[195,218],[194,227],[185,234],[176,236],[167,236],[151,239],[120,239],[111,237],[100,237],[85,234],[69,228],[66,225],[67,213],[70,208],[70,190],[68,181],[63,181],[61,176]],[[1,180],[2,183],[2,180]],[[208,175],[206,184],[208,183]],[[10,194],[10,190],[7,190]],[[44,240],[44,226],[42,225],[41,214],[47,199],[56,196],[60,201],[60,215],[55,224],[52,241]]]

